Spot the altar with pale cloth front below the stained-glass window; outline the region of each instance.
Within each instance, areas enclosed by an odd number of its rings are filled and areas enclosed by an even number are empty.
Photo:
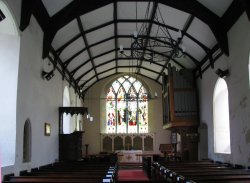
[[[119,163],[141,163],[142,150],[120,150],[116,151]]]

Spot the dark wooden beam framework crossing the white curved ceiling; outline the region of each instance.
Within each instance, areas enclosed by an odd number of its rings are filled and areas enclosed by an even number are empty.
[[[90,80],[95,78],[95,82],[98,82],[99,80],[103,78],[99,78],[101,74],[107,73],[109,71],[112,71],[112,69],[115,69],[115,74],[118,74],[118,69],[119,68],[125,68],[125,67],[136,67],[137,68],[137,74],[143,75],[143,73],[140,72],[141,69],[150,71],[152,73],[155,73],[158,75],[158,77],[155,79],[156,82],[159,82],[159,79],[164,72],[164,70],[167,68],[168,62],[165,64],[160,64],[160,63],[154,63],[157,66],[161,66],[162,69],[160,71],[154,71],[152,69],[146,68],[143,65],[143,60],[141,58],[136,58],[140,60],[140,63],[136,66],[119,66],[119,60],[124,58],[120,58],[119,56],[119,46],[118,46],[118,39],[120,38],[129,38],[131,35],[119,35],[118,34],[118,23],[143,23],[143,22],[148,22],[149,23],[149,28],[147,30],[146,34],[146,43],[150,39],[154,39],[150,37],[150,32],[152,29],[153,24],[160,25],[160,26],[166,26],[169,30],[172,31],[178,31],[177,28],[171,27],[169,25],[161,25],[158,22],[154,21],[154,16],[156,12],[156,8],[158,4],[163,4],[178,10],[181,10],[183,12],[191,14],[189,19],[186,22],[186,25],[184,28],[181,30],[182,37],[179,39],[177,48],[179,48],[179,44],[181,43],[183,37],[187,37],[191,41],[195,42],[204,52],[206,53],[206,56],[202,58],[201,60],[197,60],[193,55],[186,53],[186,56],[191,60],[191,62],[196,66],[195,73],[201,77],[202,73],[206,70],[204,69],[204,65],[208,62],[208,66],[211,66],[212,68],[214,67],[214,62],[216,59],[213,57],[213,55],[216,52],[220,52],[220,54],[224,53],[226,55],[229,55],[229,49],[228,49],[228,39],[227,39],[227,31],[230,29],[230,27],[234,24],[234,22],[238,19],[238,17],[244,12],[247,12],[248,17],[250,17],[250,3],[248,0],[234,0],[231,6],[228,8],[226,13],[220,18],[218,17],[215,13],[210,11],[208,8],[200,4],[196,0],[155,0],[153,2],[153,8],[151,11],[151,17],[149,20],[144,20],[144,19],[118,19],[118,8],[117,4],[119,2],[134,2],[134,0],[102,0],[102,1],[97,1],[97,0],[92,0],[92,1],[82,1],[82,0],[74,0],[67,6],[65,6],[63,9],[61,9],[59,12],[54,14],[52,17],[49,16],[45,6],[43,5],[41,0],[22,0],[22,12],[21,12],[21,21],[20,21],[20,29],[23,31],[26,29],[26,27],[29,25],[30,22],[30,17],[33,14],[35,18],[37,19],[39,25],[41,26],[43,32],[44,32],[44,38],[43,38],[43,58],[49,57],[50,60],[53,62],[53,64],[56,65],[56,68],[59,70],[59,72],[63,75],[63,78],[66,78],[70,85],[72,85],[75,88],[76,92],[79,92],[81,88],[85,88],[85,84],[88,83]],[[145,2],[144,0],[138,0],[137,2]],[[104,7],[110,3],[113,3],[113,19],[105,22],[101,25],[98,25],[96,27],[90,28],[90,29],[84,29],[84,26],[82,25],[80,16],[86,13],[89,13],[93,10],[96,10],[98,8]],[[212,30],[216,40],[217,44],[214,46],[214,48],[208,48],[206,45],[204,45],[202,42],[194,38],[192,35],[187,33],[188,28],[192,24],[194,18],[199,18],[202,20],[205,24],[207,24],[210,29]],[[75,35],[72,39],[70,39],[68,42],[64,43],[62,46],[59,48],[56,48],[56,50],[51,46],[52,41],[56,35],[56,33],[65,25],[67,25],[69,22],[72,20],[76,19],[77,20],[77,25],[79,28],[80,33]],[[249,18],[250,19],[250,18]],[[94,32],[96,30],[99,30],[101,28],[104,28],[109,25],[114,25],[114,35],[102,40],[99,40],[96,43],[89,44],[86,34]],[[72,43],[74,43],[76,40],[79,38],[83,39],[83,42],[85,44],[85,47],[82,48],[80,51],[76,52],[74,55],[72,55],[70,58],[67,60],[61,60],[60,55],[61,53]],[[106,43],[110,40],[114,40],[114,49],[110,49],[104,53],[101,53],[99,55],[93,55],[91,52],[91,48],[95,47],[97,45]],[[160,40],[158,40],[160,41]],[[146,44],[145,44],[146,45]],[[126,50],[129,50],[129,48],[125,48]],[[72,60],[76,57],[78,57],[81,53],[87,52],[89,59],[77,67],[75,67],[73,70],[69,70],[68,66],[72,62]],[[144,46],[143,48],[143,55],[145,54],[146,51],[151,51],[156,54],[156,51],[153,50],[148,50]],[[113,59],[110,59],[102,64],[95,65],[94,60],[96,58],[100,58],[102,56],[108,55],[110,53],[114,52],[115,56]],[[53,58],[49,55],[49,53],[52,53]],[[219,55],[220,55],[219,54]],[[164,55],[162,55],[164,56]],[[166,56],[166,55],[165,55]],[[125,58],[129,59],[129,58]],[[171,61],[175,64],[177,64],[180,68],[185,68],[181,63],[176,61],[174,58],[172,58],[172,55],[170,55],[168,58],[168,61]],[[97,72],[97,68],[104,66],[108,63],[115,62],[115,67],[114,68],[107,68],[105,71],[102,72]],[[91,71],[94,71],[95,76],[91,77],[88,79],[88,81],[82,83],[79,86],[79,81],[81,80],[82,77],[84,77],[86,74],[88,74],[90,71],[87,71],[85,73],[82,73],[78,78],[75,78],[74,75],[75,73],[84,67],[87,63],[91,63],[92,69]],[[59,65],[59,67],[57,66]],[[202,69],[203,68],[203,69]],[[205,67],[207,68],[207,66]],[[146,76],[146,75],[144,75]],[[147,77],[147,76],[146,76]],[[150,78],[152,79],[152,78]],[[94,82],[94,83],[95,83]]]

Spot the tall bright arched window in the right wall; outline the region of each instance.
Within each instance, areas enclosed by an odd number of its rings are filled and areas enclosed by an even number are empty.
[[[231,153],[228,88],[226,81],[219,78],[213,97],[214,152]]]

